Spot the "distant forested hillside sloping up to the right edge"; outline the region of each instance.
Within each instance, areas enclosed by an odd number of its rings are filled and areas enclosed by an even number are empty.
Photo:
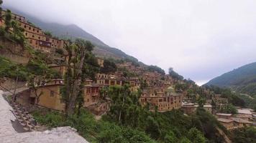
[[[234,69],[211,79],[206,85],[230,87],[242,94],[256,94],[256,62]]]

